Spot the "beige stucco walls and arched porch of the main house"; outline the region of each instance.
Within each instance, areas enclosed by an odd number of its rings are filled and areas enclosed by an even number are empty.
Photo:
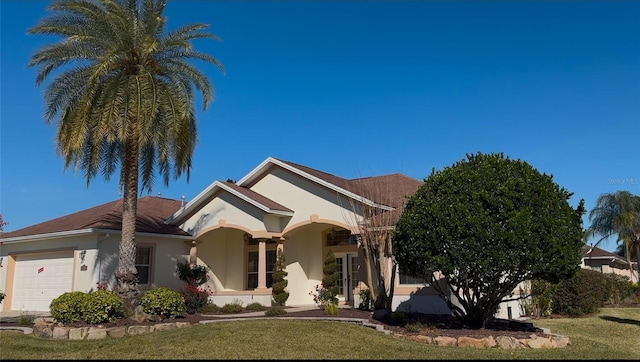
[[[182,283],[176,275],[176,264],[190,261],[209,268],[206,287],[212,291],[211,302],[219,306],[233,302],[271,305],[267,255],[280,249],[286,259],[290,293],[286,304],[312,305],[312,294],[322,282],[324,260],[331,250],[341,261],[342,280],[347,286],[339,299],[357,307],[358,292],[366,288],[362,252],[351,239],[348,243],[328,246],[327,235],[355,233],[356,223],[362,220],[360,203],[370,201],[292,167],[267,159],[237,186],[219,181],[212,183],[166,221],[191,236],[137,235],[139,247],[152,248],[150,283],[141,285],[141,290],[160,286],[179,290]],[[267,200],[251,199],[236,189],[240,186]],[[0,308],[12,308],[7,300],[11,299],[15,279],[14,255],[35,250],[73,250],[73,290],[86,292],[95,289],[98,283],[112,285],[119,241],[119,231],[82,230],[4,243],[0,248],[0,256],[4,258],[0,289],[7,293],[7,298]],[[248,285],[250,253],[253,257],[258,255],[257,272],[252,271],[257,274],[257,287]],[[450,313],[430,286],[403,285],[399,280],[396,272],[394,310]],[[506,313],[506,308],[504,310]],[[519,316],[514,311],[513,317]]]

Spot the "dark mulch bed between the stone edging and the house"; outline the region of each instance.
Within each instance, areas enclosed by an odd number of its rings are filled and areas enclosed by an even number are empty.
[[[287,310],[288,308],[285,308]],[[245,310],[240,315],[236,317],[240,318],[252,318],[252,317],[243,317],[242,314],[250,313],[252,311]],[[212,319],[221,319],[220,317],[215,317],[212,315],[225,316],[223,313],[212,313],[208,314],[209,316],[205,316],[202,314],[185,314],[175,319],[163,319],[160,321],[144,321],[144,322],[136,322],[132,319],[118,319],[114,322],[110,323],[101,323],[101,325],[105,327],[127,327],[132,325],[154,325],[157,323],[166,323],[166,322],[189,322],[191,324],[198,324],[198,322],[203,320],[212,320]],[[268,316],[265,316],[268,317]],[[533,328],[530,323],[523,323],[518,321],[508,321],[508,320],[498,320],[495,321],[492,325],[488,326],[485,329],[470,329],[464,328],[461,326],[459,322],[455,320],[455,318],[451,316],[445,315],[435,315],[435,314],[422,314],[422,313],[405,313],[404,318],[400,321],[394,320],[392,318],[385,318],[383,320],[373,319],[373,313],[369,311],[363,311],[357,308],[339,308],[338,314],[334,316],[330,316],[325,313],[325,311],[321,308],[302,311],[302,312],[288,312],[284,315],[279,315],[276,317],[339,317],[339,318],[358,318],[365,319],[375,324],[382,324],[386,330],[389,330],[395,334],[401,335],[427,335],[431,337],[437,336],[449,336],[449,337],[460,337],[460,336],[468,336],[473,338],[483,338],[488,336],[511,336],[515,338],[528,338],[531,334],[543,335],[542,331]],[[18,325],[19,318],[5,318],[0,321],[1,325]],[[67,326],[70,327],[83,327],[87,326],[84,322],[75,322],[69,323]]]

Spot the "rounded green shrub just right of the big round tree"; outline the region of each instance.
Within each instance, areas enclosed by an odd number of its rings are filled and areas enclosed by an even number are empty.
[[[608,278],[595,270],[580,269],[560,281],[553,297],[554,313],[580,317],[598,311],[608,298]]]

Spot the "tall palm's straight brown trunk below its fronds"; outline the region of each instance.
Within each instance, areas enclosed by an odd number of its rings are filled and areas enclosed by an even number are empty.
[[[115,291],[125,300],[127,309],[138,304],[138,271],[136,270],[136,215],[138,208],[138,145],[129,141],[125,145],[122,164],[124,197],[122,199],[122,239],[116,271]]]

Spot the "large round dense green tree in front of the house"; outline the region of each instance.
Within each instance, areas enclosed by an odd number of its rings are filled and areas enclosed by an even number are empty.
[[[484,328],[501,302],[533,279],[580,267],[584,202],[552,176],[503,154],[467,155],[432,171],[393,234],[401,272],[427,280],[456,318]]]

